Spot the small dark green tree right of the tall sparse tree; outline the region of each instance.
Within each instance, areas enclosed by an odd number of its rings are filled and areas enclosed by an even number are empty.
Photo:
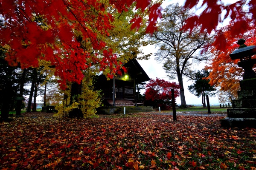
[[[206,108],[206,102],[205,102],[205,96],[210,95],[213,96],[215,93],[213,91],[216,91],[215,87],[209,84],[209,79],[205,79],[209,76],[209,71],[203,69],[201,71],[197,71],[195,73],[195,83],[192,85],[189,85],[189,91],[194,94],[195,96],[202,96],[202,104],[203,107]],[[210,93],[212,92],[212,93]]]

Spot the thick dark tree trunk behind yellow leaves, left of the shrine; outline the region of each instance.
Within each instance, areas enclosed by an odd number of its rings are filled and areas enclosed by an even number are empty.
[[[78,84],[73,82],[71,85],[71,94],[70,94],[70,105],[73,102],[78,102],[79,95],[82,94],[82,82]],[[75,108],[68,114],[69,117],[83,117],[83,113],[80,108]]]

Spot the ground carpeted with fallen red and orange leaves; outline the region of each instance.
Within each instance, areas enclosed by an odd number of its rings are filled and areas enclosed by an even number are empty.
[[[256,170],[256,130],[224,117],[133,114],[93,119],[25,113],[0,124],[0,169]]]

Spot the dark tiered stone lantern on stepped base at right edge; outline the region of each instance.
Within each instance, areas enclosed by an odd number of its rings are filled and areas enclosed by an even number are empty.
[[[227,117],[221,120],[222,127],[256,127],[256,73],[253,65],[256,59],[256,46],[247,46],[245,40],[238,40],[239,49],[230,54],[231,59],[240,59],[238,66],[244,69],[243,79],[239,82],[238,100],[232,101],[232,109],[227,109]]]

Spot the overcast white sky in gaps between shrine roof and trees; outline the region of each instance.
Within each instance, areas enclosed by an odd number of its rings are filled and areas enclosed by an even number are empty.
[[[166,6],[170,5],[171,3],[177,3],[176,0],[165,0],[162,4],[162,7],[165,8]],[[179,1],[180,5],[184,4],[184,0]],[[154,53],[157,51],[157,49],[154,47],[154,45],[148,45],[147,47],[141,48],[144,52],[144,54],[149,54],[152,53],[153,55],[151,56],[150,59],[148,60],[139,60],[138,62],[144,69],[144,71],[148,74],[148,77],[151,79],[161,78],[165,79],[171,82],[177,82],[177,79],[174,80],[169,80],[166,76],[165,71],[163,70],[163,63],[158,63],[157,61],[154,60],[155,56]],[[204,68],[205,63],[202,62],[200,65],[195,65],[195,70],[201,70]],[[184,89],[185,89],[185,98],[186,98],[186,104],[187,105],[201,105],[201,97],[197,97],[193,94],[191,94],[188,90],[188,85],[193,84],[192,81],[188,81],[188,79],[184,76],[183,78],[183,83],[184,83]],[[143,92],[143,91],[142,91]],[[177,104],[180,104],[180,97],[176,99]],[[210,105],[219,105],[218,102],[218,97],[217,95],[214,97],[209,96],[209,102]]]

